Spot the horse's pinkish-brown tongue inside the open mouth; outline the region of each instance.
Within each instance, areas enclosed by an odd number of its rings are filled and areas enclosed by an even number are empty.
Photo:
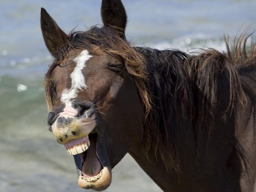
[[[96,138],[90,138],[91,145],[87,150],[85,161],[83,163],[82,173],[84,177],[93,177],[102,170],[101,163],[96,155]]]

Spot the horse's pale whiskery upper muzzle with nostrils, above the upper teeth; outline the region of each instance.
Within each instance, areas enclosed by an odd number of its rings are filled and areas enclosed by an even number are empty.
[[[70,102],[48,116],[48,126],[60,144],[86,137],[96,126],[95,106],[90,102]]]

